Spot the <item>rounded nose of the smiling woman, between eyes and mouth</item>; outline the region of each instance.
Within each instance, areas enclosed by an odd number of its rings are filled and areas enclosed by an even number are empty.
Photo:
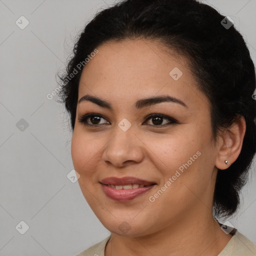
[[[115,134],[106,144],[102,158],[107,164],[117,167],[138,163],[143,159],[142,144],[132,127],[123,131],[117,126]]]

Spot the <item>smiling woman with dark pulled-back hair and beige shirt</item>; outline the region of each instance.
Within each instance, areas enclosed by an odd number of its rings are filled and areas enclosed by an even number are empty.
[[[227,17],[195,0],[124,0],[61,76],[81,191],[109,237],[78,255],[256,255],[236,212],[256,148],[255,71]]]

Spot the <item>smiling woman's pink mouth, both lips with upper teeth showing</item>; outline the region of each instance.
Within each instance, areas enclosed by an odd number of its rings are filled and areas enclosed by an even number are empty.
[[[103,192],[116,201],[128,201],[144,194],[156,183],[135,177],[108,177],[100,181]]]

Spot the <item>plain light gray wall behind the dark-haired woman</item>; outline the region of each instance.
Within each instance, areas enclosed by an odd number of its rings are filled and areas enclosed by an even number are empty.
[[[55,97],[46,95],[57,86],[55,73],[75,35],[97,9],[113,2],[0,0],[0,256],[71,256],[109,234],[78,183],[66,177],[73,169],[69,120]],[[256,63],[256,0],[203,2],[234,20]],[[29,21],[24,29],[15,24],[21,15]],[[21,118],[28,123],[23,130]],[[252,167],[241,207],[228,219],[254,243],[255,181]],[[29,226],[24,234],[15,228],[21,220]]]

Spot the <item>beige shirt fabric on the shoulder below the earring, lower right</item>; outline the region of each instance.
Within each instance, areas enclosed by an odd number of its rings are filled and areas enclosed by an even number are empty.
[[[232,238],[218,256],[256,256],[256,246],[247,237],[235,230]]]

